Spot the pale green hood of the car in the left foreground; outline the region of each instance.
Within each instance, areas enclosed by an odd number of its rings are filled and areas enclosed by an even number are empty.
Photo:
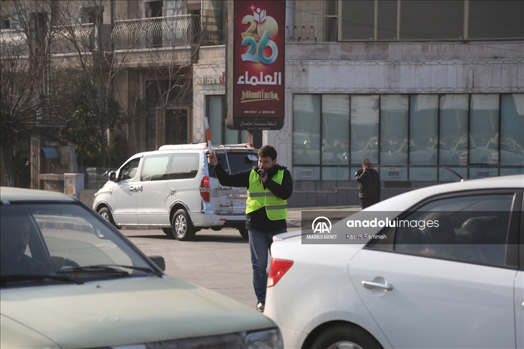
[[[2,347],[107,347],[276,327],[233,299],[167,277],[3,289],[1,302]]]

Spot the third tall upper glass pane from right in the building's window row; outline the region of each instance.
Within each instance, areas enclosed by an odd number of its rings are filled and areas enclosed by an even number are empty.
[[[458,165],[460,159],[464,160],[461,165],[467,165],[468,99],[468,95],[440,97],[441,165]],[[461,154],[464,154],[462,158]]]

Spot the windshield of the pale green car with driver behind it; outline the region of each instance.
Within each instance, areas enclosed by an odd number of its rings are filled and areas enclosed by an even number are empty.
[[[2,287],[161,275],[80,204],[10,203],[0,214]]]

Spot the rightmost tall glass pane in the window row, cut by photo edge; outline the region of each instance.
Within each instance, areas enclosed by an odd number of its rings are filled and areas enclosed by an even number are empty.
[[[500,164],[524,165],[524,94],[500,98]]]

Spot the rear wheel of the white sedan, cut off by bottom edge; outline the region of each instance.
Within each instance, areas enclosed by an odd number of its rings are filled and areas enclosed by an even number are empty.
[[[336,324],[316,337],[312,349],[367,349],[382,348],[380,343],[363,328],[351,324]]]

